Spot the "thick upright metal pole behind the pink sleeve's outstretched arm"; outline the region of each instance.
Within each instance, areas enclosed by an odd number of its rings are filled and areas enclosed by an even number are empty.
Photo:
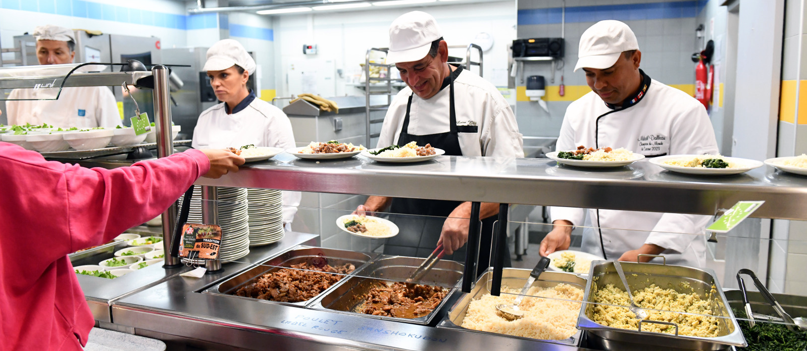
[[[168,67],[156,65],[152,69],[154,77],[154,125],[157,127],[157,158],[169,157],[174,153],[174,143],[171,141],[171,97],[168,86]],[[162,249],[165,253],[171,252],[171,243],[174,242],[174,228],[177,225],[177,203],[174,202],[162,213]],[[177,257],[165,255],[165,266],[179,265]]]

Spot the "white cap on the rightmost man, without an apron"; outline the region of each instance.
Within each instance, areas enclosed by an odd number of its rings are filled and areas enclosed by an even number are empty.
[[[617,63],[622,52],[638,50],[639,42],[627,24],[613,19],[594,23],[580,36],[578,69],[607,69]]]

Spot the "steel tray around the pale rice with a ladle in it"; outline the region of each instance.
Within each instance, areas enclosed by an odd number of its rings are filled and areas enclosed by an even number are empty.
[[[524,270],[518,268],[505,268],[504,270],[502,270],[502,286],[508,286],[511,288],[520,288],[521,286],[524,286],[525,282],[529,278],[529,273],[531,271],[532,270]],[[463,294],[462,297],[457,300],[457,303],[454,303],[454,306],[451,307],[448,314],[445,315],[445,319],[443,319],[440,322],[440,324],[437,324],[437,328],[458,329],[465,332],[478,332],[480,334],[487,334],[487,335],[507,336],[506,334],[499,334],[495,332],[482,332],[475,329],[461,327],[462,320],[465,320],[466,311],[468,311],[468,306],[470,305],[470,302],[480,299],[482,295],[491,293],[490,290],[492,282],[491,278],[493,278],[493,271],[492,269],[488,269],[487,272],[485,272],[484,274],[482,274],[481,277],[479,277],[479,281],[476,282],[474,290],[470,290],[470,294]],[[557,286],[560,283],[567,283],[571,286],[576,286],[580,290],[586,288],[586,279],[580,277],[579,275],[566,272],[550,272],[550,271],[541,273],[541,277],[539,277],[533,283],[533,286],[552,287]],[[540,341],[550,342],[554,344],[579,346],[580,339],[582,338],[582,336],[583,331],[578,330],[577,332],[575,332],[575,335],[569,337],[568,339],[540,340]],[[509,337],[529,341],[537,340],[521,336],[509,336]]]

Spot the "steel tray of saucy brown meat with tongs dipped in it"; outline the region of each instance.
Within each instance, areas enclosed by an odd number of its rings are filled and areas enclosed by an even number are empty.
[[[404,282],[407,278],[412,276],[417,267],[423,263],[423,258],[417,257],[402,257],[402,256],[381,256],[370,262],[360,274],[340,282],[327,294],[322,294],[319,299],[316,299],[308,308],[324,311],[337,311],[350,315],[362,315],[368,318],[375,318],[379,320],[395,320],[397,322],[412,323],[412,324],[429,324],[437,315],[437,311],[445,305],[445,302],[451,298],[454,291],[457,290],[456,286],[460,279],[462,279],[462,264],[455,261],[438,261],[429,274],[426,274],[418,282],[419,284],[445,286],[449,289],[448,295],[437,305],[429,315],[424,315],[419,318],[397,318],[387,317],[386,315],[366,315],[364,313],[354,312],[356,307],[364,303],[364,299],[359,297],[366,294],[378,281],[397,281]],[[453,287],[449,287],[453,286]]]

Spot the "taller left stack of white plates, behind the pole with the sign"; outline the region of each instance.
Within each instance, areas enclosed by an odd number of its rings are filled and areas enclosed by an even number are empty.
[[[235,261],[249,254],[247,190],[224,187],[217,189],[219,193],[219,226],[221,227],[219,257],[222,261]],[[182,198],[179,199],[179,204],[182,206]],[[202,220],[201,186],[194,186],[194,197],[190,200],[188,223],[204,224]]]

